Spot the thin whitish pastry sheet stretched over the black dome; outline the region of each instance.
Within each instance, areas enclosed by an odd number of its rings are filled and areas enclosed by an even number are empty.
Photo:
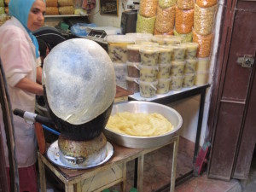
[[[43,84],[52,113],[72,125],[95,119],[113,103],[113,63],[99,44],[84,38],[55,46],[44,60]]]

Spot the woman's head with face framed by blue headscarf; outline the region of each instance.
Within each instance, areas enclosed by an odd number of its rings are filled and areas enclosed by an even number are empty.
[[[15,16],[29,31],[35,31],[44,24],[44,0],[10,0],[9,15]]]

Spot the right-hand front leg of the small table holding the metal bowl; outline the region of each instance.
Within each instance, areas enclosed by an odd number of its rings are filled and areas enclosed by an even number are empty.
[[[172,175],[171,175],[171,187],[170,187],[170,192],[174,192],[174,189],[175,189],[178,142],[179,142],[179,136],[177,136],[177,137],[175,138],[175,141],[174,141],[174,143],[173,143],[173,152],[172,152]]]

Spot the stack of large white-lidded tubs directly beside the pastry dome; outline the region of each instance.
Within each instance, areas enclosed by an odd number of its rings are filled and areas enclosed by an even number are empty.
[[[113,62],[116,84],[126,89],[127,45],[134,44],[133,39],[125,35],[108,35],[108,55]]]

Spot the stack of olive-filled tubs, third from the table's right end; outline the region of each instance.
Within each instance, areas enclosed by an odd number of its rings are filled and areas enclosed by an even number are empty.
[[[186,46],[183,44],[170,45],[173,49],[172,67],[171,67],[171,84],[169,90],[181,90],[183,87],[183,70],[185,67]]]

